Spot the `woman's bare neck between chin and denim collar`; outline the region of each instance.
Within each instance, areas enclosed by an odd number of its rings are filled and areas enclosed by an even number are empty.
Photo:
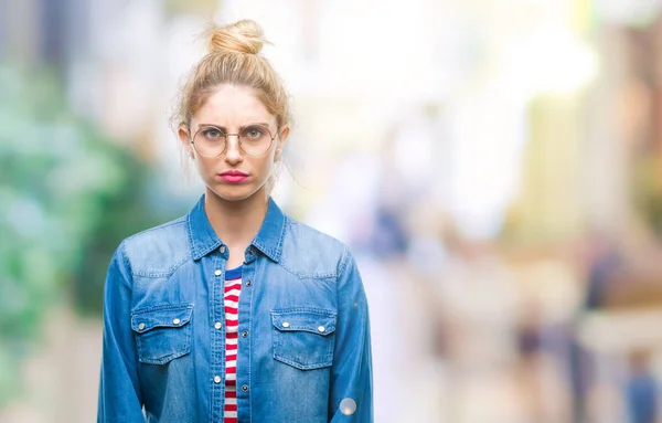
[[[242,201],[227,201],[206,189],[204,209],[218,235],[229,246],[247,246],[259,231],[267,214],[264,188]]]

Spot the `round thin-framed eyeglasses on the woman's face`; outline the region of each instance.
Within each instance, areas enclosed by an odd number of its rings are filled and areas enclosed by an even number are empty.
[[[227,148],[227,138],[234,135],[237,137],[239,148],[249,156],[264,155],[271,148],[275,135],[264,125],[249,125],[238,134],[228,134],[225,129],[206,125],[197,129],[191,144],[200,156],[218,157]]]

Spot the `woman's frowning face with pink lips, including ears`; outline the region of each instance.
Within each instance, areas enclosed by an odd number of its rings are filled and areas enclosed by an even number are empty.
[[[195,137],[196,145],[201,146],[197,140],[203,134],[205,142],[215,140],[224,144],[223,133],[242,133],[245,148],[250,151],[249,142],[259,136],[259,128],[267,128],[275,138],[270,147],[257,156],[243,151],[233,135],[227,137],[225,150],[217,157],[205,157],[209,156],[206,152],[201,156],[191,145],[192,137]],[[200,135],[195,136],[199,130]],[[280,159],[288,134],[287,127],[280,128],[278,134],[276,117],[266,109],[253,88],[235,85],[221,85],[191,118],[191,127],[179,130],[180,140],[195,161],[207,191],[226,201],[244,201],[256,194],[266,198],[265,183],[275,161]],[[268,134],[266,136],[270,138]],[[197,150],[203,151],[200,147]]]

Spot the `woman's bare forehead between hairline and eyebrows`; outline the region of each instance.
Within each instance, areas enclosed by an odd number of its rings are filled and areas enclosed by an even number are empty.
[[[193,124],[214,124],[225,127],[250,123],[271,123],[274,116],[257,96],[243,85],[220,85],[193,116]]]

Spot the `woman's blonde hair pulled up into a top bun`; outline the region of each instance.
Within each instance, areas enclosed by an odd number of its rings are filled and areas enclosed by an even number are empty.
[[[252,20],[213,25],[207,40],[207,54],[193,66],[179,94],[172,117],[175,129],[190,130],[193,115],[222,84],[255,89],[258,99],[275,116],[278,133],[290,125],[289,94],[269,61],[260,54],[267,42],[261,27]],[[267,192],[273,189],[273,179],[267,182]]]

